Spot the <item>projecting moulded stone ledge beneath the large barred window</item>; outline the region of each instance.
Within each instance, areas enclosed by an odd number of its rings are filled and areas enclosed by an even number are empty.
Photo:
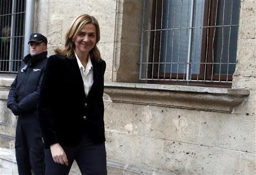
[[[105,82],[105,93],[115,103],[231,113],[235,106],[245,101],[250,91],[247,89]]]

